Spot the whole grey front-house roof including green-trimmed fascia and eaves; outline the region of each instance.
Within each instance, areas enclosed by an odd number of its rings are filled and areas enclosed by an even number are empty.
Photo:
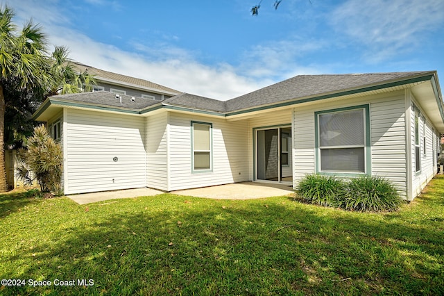
[[[427,81],[428,83],[425,83]],[[413,87],[413,85],[417,86]],[[418,85],[422,85],[420,89]],[[258,110],[294,106],[308,101],[359,95],[371,91],[384,92],[387,88],[409,87],[412,87],[413,91],[422,90],[422,93],[427,90],[427,110],[434,113],[434,123],[444,131],[443,99],[436,71],[300,75],[229,101],[219,101],[187,93],[178,94],[161,102],[140,98],[132,101],[131,97],[126,95],[121,95],[119,99],[116,99],[115,94],[105,91],[64,94],[49,97],[36,111],[34,118],[44,121],[48,115],[43,117],[41,115],[49,106],[59,108],[73,106],[136,115],[164,108],[230,117]]]

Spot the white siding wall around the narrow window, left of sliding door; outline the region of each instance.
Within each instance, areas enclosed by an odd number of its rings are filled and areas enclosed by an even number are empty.
[[[192,172],[191,121],[212,124],[212,172]],[[248,129],[246,122],[169,115],[169,190],[248,181]]]

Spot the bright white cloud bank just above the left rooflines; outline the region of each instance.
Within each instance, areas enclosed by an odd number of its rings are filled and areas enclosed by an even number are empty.
[[[66,39],[65,34],[74,38]],[[114,45],[96,42],[67,28],[52,31],[51,41],[65,44],[69,47],[71,58],[92,67],[135,76],[204,97],[225,100],[259,88],[256,81],[238,75],[233,67],[203,65],[193,60],[186,51],[181,53],[180,58],[171,55],[168,58],[147,59],[144,54],[130,53]]]

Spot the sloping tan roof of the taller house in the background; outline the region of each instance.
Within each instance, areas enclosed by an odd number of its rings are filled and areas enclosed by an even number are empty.
[[[98,81],[108,82],[112,84],[119,84],[130,88],[142,88],[145,90],[151,90],[154,92],[160,92],[170,95],[176,95],[181,93],[178,90],[173,90],[173,88],[167,88],[164,85],[153,83],[148,80],[138,79],[135,77],[117,74],[113,72],[108,72],[78,62],[73,62],[73,65],[79,72],[80,71],[85,72],[86,70],[87,73],[94,75],[96,80]]]

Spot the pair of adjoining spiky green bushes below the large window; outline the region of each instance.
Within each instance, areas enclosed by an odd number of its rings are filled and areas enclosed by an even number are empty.
[[[343,181],[334,176],[309,174],[300,181],[296,194],[307,204],[339,206],[348,211],[395,211],[402,203],[395,186],[378,176]]]

